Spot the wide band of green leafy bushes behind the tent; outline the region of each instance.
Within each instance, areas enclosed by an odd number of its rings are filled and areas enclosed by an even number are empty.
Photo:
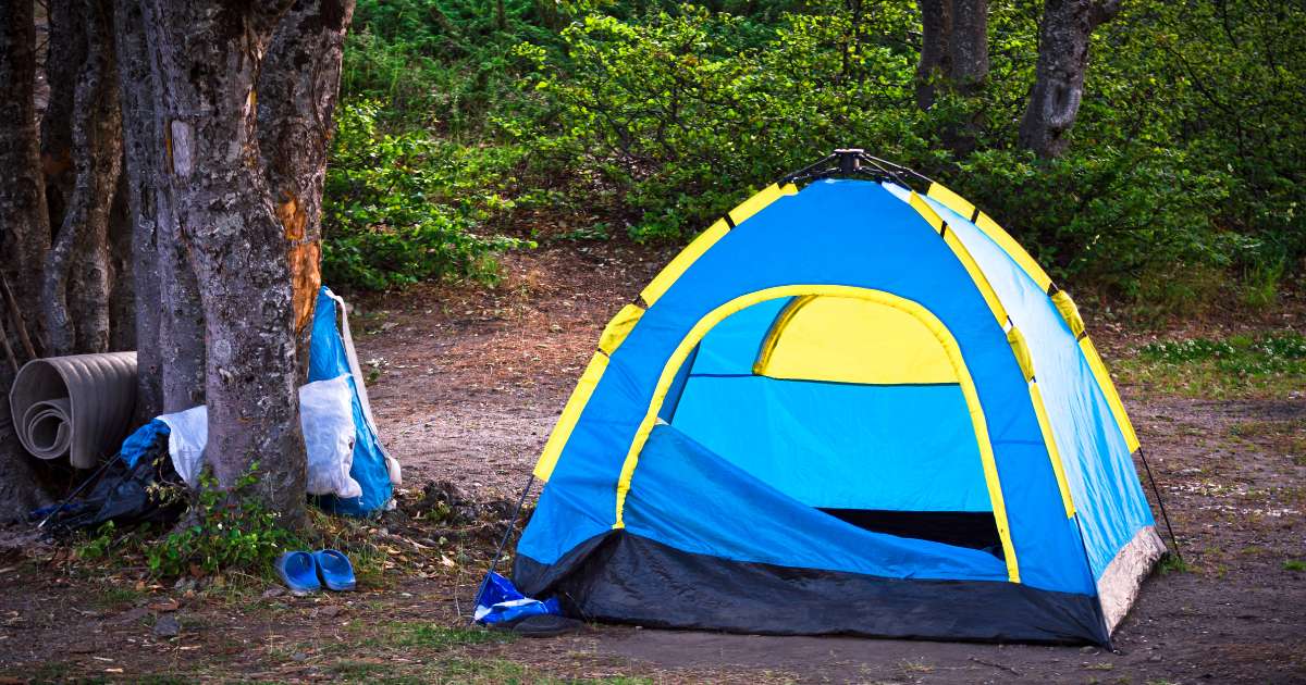
[[[374,129],[337,144],[354,176],[328,190],[329,275],[477,277],[508,245],[475,236],[528,205],[605,223],[573,240],[683,241],[861,146],[982,206],[1059,281],[1155,314],[1271,307],[1306,256],[1306,8],[1123,7],[1093,34],[1068,153],[1041,160],[1016,133],[1042,3],[990,3],[989,78],[921,111],[909,0],[364,0],[343,91],[379,104],[342,108]]]

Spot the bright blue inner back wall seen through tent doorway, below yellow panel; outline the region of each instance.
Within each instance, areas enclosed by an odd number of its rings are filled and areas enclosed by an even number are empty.
[[[957,385],[691,376],[671,425],[808,506],[993,511]]]

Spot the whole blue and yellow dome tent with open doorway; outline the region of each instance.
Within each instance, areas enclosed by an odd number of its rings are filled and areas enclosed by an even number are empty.
[[[613,318],[535,466],[525,594],[649,626],[1110,642],[1165,551],[1138,437],[1070,296],[906,174],[837,151]]]

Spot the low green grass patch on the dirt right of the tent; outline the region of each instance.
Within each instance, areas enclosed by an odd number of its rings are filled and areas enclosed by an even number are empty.
[[[1114,371],[1121,382],[1181,397],[1288,397],[1306,385],[1306,337],[1279,331],[1155,342]]]

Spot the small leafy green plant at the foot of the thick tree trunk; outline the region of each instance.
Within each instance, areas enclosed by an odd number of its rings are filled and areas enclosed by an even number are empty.
[[[259,481],[257,468],[253,464],[231,492],[218,489],[208,472],[201,475],[188,525],[146,549],[150,571],[161,577],[229,570],[269,575],[281,552],[300,548],[300,540],[279,526],[277,513],[256,497],[239,496]]]

